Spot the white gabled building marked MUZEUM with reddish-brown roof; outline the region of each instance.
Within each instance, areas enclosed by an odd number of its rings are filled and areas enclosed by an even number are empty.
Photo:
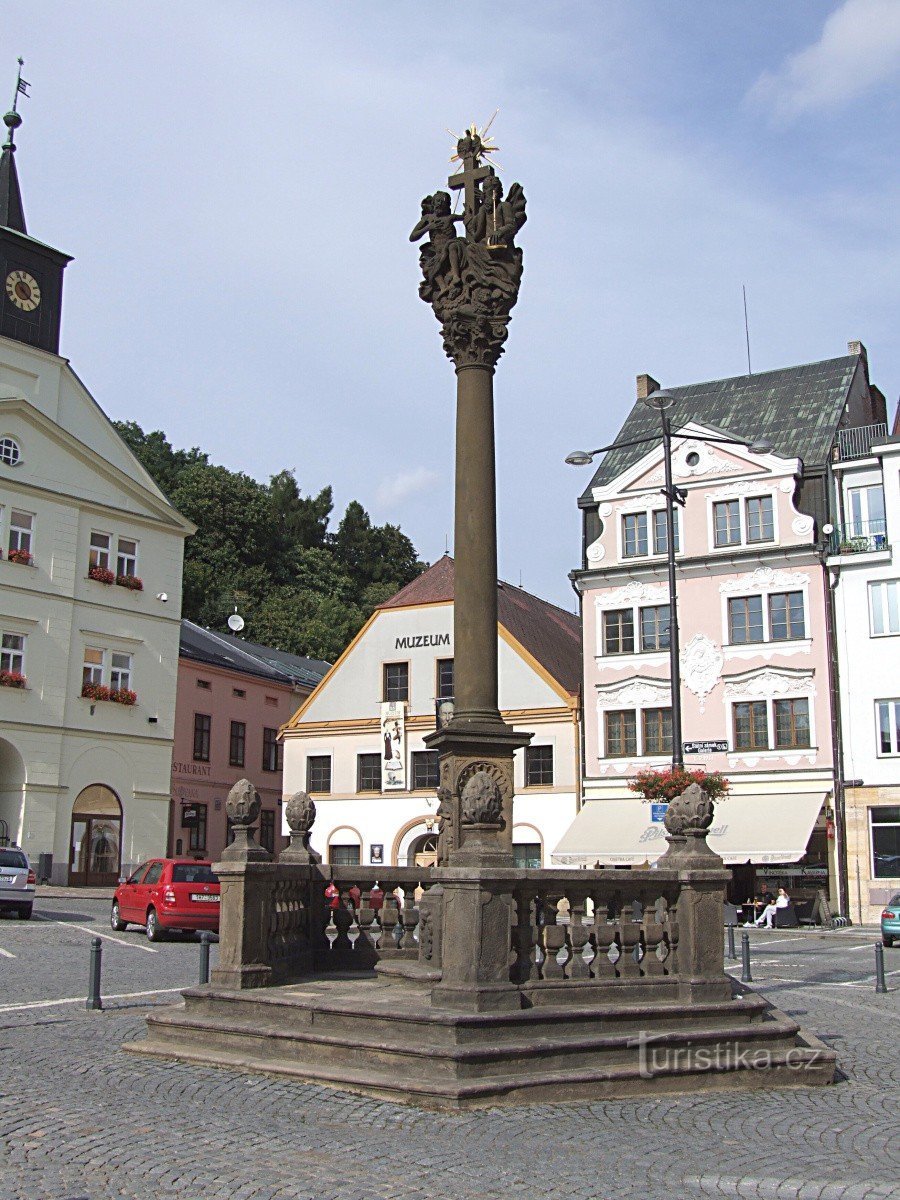
[[[282,731],[284,794],[308,791],[312,845],[334,864],[428,865],[437,752],[424,738],[452,700],[452,559],[382,605]],[[512,840],[548,866],[578,806],[578,619],[498,584],[499,706],[534,733],[516,752]]]

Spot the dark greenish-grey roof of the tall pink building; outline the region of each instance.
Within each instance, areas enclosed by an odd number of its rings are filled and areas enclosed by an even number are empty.
[[[668,410],[672,426],[678,428],[689,421],[700,421],[731,437],[767,438],[776,454],[800,458],[806,467],[822,466],[857,368],[862,370],[860,355],[847,354],[760,374],[668,388],[666,390],[677,397]],[[659,414],[638,401],[616,440],[652,438],[659,427]],[[611,484],[637,462],[649,444],[610,450],[582,494],[582,503],[593,500],[594,487]]]

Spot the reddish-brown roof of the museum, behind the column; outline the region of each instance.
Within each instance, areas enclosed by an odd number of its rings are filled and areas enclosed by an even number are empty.
[[[379,608],[446,604],[454,599],[454,560],[444,554]],[[497,581],[497,620],[569,695],[581,685],[581,622],[524,588]]]

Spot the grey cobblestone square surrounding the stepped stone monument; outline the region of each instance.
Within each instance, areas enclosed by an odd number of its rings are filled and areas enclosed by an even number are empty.
[[[756,986],[834,1046],[834,1087],[436,1115],[121,1054],[173,998],[133,994],[193,983],[196,942],[104,941],[121,998],[88,1013],[107,905],[38,912],[0,920],[0,1200],[900,1198],[900,952],[876,995],[874,930],[751,935]]]

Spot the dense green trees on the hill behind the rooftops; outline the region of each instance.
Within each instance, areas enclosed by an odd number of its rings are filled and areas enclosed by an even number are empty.
[[[293,470],[268,484],[175,450],[161,430],[115,427],[175,508],[197,526],[185,544],[182,614],[226,629],[235,606],[250,641],[334,661],[374,608],[425,564],[358,500],[332,533],[330,487],[304,496]]]

